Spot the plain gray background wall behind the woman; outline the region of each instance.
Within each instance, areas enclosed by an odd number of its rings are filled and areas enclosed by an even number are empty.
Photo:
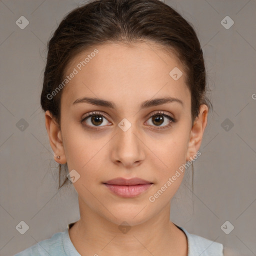
[[[170,218],[190,233],[221,242],[239,251],[239,255],[256,255],[256,2],[165,2],[196,29],[213,103],[200,147],[202,154],[194,162],[193,193],[182,182],[172,200]],[[79,218],[74,188],[57,191],[57,163],[48,142],[39,97],[47,40],[64,14],[80,3],[0,1],[2,256],[50,238]],[[22,15],[29,20],[24,29],[15,24]],[[220,23],[227,15],[234,21],[229,29]],[[24,123],[21,118],[27,127],[20,126]],[[189,177],[187,180],[190,182]],[[29,226],[24,234],[15,228],[21,220]],[[234,226],[229,234],[220,228],[226,220]],[[226,230],[229,228],[228,223]]]

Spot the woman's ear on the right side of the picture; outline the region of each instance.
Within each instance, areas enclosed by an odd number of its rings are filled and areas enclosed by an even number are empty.
[[[199,111],[199,115],[195,118],[190,131],[186,161],[191,160],[193,155],[195,155],[199,150],[202,141],[202,135],[207,124],[207,105],[201,104]]]

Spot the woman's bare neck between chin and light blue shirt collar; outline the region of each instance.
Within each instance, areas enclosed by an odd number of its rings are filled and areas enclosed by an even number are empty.
[[[155,217],[126,229],[86,204],[79,202],[79,206],[80,219],[69,229],[69,236],[81,255],[187,255],[185,234],[169,221],[170,204]]]

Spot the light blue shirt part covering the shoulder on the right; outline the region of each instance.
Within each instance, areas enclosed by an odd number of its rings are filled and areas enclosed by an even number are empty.
[[[188,242],[187,256],[223,256],[223,244],[206,239],[202,236],[188,233],[186,229],[179,227],[184,231]]]

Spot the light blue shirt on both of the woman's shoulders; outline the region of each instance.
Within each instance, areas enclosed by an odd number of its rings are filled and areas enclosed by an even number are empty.
[[[81,256],[72,244],[68,233],[68,229],[73,223],[68,224],[63,232],[54,233],[51,238],[42,240],[14,256]],[[177,227],[186,234],[187,256],[223,256],[222,243],[190,234],[184,228]]]

